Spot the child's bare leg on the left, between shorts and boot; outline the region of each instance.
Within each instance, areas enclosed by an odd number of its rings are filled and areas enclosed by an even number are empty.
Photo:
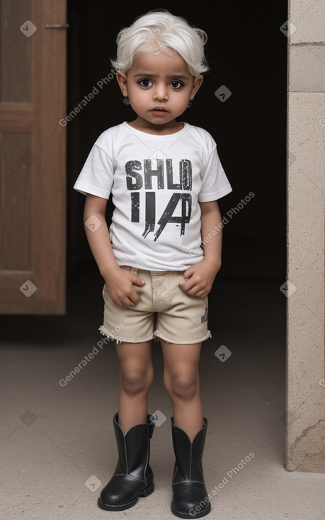
[[[131,426],[147,422],[147,398],[154,378],[151,344],[115,342],[120,361],[118,423],[125,434]]]

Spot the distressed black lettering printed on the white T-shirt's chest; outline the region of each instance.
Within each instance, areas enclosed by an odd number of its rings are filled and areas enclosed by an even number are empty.
[[[161,214],[159,228],[154,233],[158,239],[168,223],[181,224],[181,236],[185,234],[185,225],[190,222],[192,196],[186,193],[192,189],[192,164],[188,159],[179,162],[179,182],[173,182],[172,159],[155,159],[156,169],[152,169],[152,159],[144,159],[143,169],[140,161],[128,161],[125,164],[126,185],[131,191],[131,222],[139,222],[140,190],[145,192],[145,227],[144,238],[154,232],[156,225],[156,191],[152,190],[152,177],[156,176],[157,190],[171,190],[171,198]],[[178,190],[178,191],[176,191]],[[178,203],[181,204],[181,216],[173,216]]]

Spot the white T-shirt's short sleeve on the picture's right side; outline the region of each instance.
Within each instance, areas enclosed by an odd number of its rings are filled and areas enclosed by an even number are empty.
[[[198,196],[199,202],[210,202],[222,198],[232,191],[217,153],[217,145],[207,159],[207,164],[201,173],[202,186]]]

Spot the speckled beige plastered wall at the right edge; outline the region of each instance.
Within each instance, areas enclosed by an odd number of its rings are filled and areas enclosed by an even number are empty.
[[[285,468],[325,473],[325,2],[287,23],[287,439]]]

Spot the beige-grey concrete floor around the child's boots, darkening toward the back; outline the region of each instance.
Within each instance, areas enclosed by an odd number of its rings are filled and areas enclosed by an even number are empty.
[[[3,520],[176,518],[170,510],[172,409],[162,382],[160,344],[154,342],[149,413],[160,410],[167,418],[151,441],[154,493],[120,512],[96,504],[117,461],[112,421],[118,358],[113,344],[66,386],[59,380],[102,339],[97,330],[102,285],[97,273],[74,283],[66,316],[0,317]],[[209,420],[205,484],[210,492],[225,483],[211,498],[211,520],[325,519],[325,475],[284,469],[285,296],[280,285],[215,282],[219,300],[209,310],[212,339],[203,343],[200,361]],[[215,356],[221,345],[232,352],[224,362]],[[241,467],[245,457],[248,462]]]

